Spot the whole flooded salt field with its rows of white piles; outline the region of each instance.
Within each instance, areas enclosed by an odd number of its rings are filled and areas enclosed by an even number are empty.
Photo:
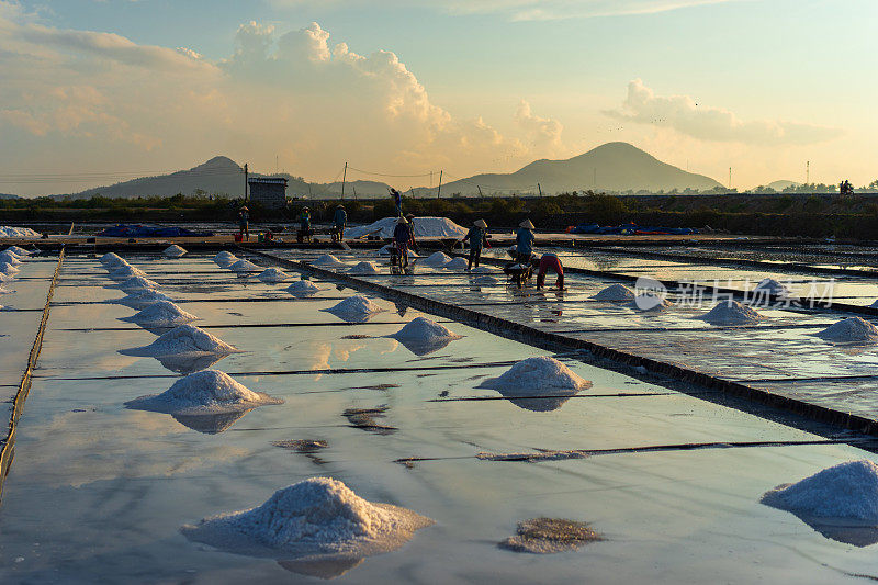
[[[565,266],[606,275],[571,272],[559,292],[508,286],[492,263],[446,268],[451,257],[393,274],[378,248],[326,258],[183,247],[117,249],[108,266],[104,252],[66,251],[3,485],[0,581],[878,576],[862,517],[852,538],[810,521],[813,506],[764,499],[849,461],[866,463],[820,477],[873,482],[878,440],[487,325],[878,419],[868,314],[714,312],[678,290],[662,311],[642,311],[618,286],[633,284],[616,278],[723,274],[741,290],[773,278],[796,292],[811,277],[561,250]],[[373,270],[351,272],[360,262]],[[24,258],[3,283],[8,397],[57,263],[54,252]],[[120,288],[127,266],[149,283]],[[868,278],[835,286],[851,304],[878,299]],[[854,316],[865,325],[838,326]],[[833,522],[849,527],[848,511],[873,508],[836,506]]]

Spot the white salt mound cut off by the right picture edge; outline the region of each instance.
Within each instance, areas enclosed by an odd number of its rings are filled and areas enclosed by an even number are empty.
[[[841,463],[779,485],[762,502],[796,514],[878,525],[878,465],[866,459]]]

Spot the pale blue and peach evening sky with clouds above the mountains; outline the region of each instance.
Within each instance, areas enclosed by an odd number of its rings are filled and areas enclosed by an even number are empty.
[[[738,189],[808,161],[862,185],[875,22],[875,0],[0,0],[0,193],[217,155],[407,188],[615,140]]]

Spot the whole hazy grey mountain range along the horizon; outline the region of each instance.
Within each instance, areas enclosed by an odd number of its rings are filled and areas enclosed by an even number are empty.
[[[251,173],[251,177],[261,177]],[[288,194],[306,199],[337,199],[341,183],[308,183],[288,173],[274,175],[289,180]],[[565,191],[669,191],[693,189],[698,191],[722,187],[703,175],[686,172],[662,162],[627,143],[609,143],[566,160],[537,160],[511,173],[476,175],[448,182],[442,193],[485,195],[537,193],[537,183],[545,194]],[[375,181],[350,181],[345,184],[347,198],[375,198],[387,194],[390,187]],[[415,196],[435,196],[436,188],[415,188]],[[108,187],[95,187],[79,193],[54,195],[56,199],[171,196],[177,193],[198,193],[226,196],[244,195],[244,169],[234,160],[217,156],[193,167],[160,177],[144,177]]]

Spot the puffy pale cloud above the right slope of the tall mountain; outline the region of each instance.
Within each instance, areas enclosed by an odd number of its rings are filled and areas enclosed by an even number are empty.
[[[640,79],[628,85],[628,97],[621,109],[605,113],[616,120],[673,128],[702,140],[803,145],[843,134],[840,128],[802,122],[744,121],[729,110],[696,103],[688,95],[656,95]]]

